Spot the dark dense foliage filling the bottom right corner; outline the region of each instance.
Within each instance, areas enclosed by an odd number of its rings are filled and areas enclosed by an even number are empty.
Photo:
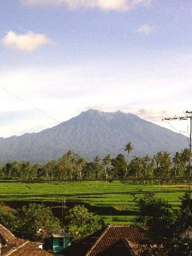
[[[135,218],[135,223],[145,226],[149,231],[142,256],[192,255],[192,199],[189,193],[180,199],[180,208],[173,210],[165,199],[155,198],[154,194],[135,198],[139,208],[139,216]]]

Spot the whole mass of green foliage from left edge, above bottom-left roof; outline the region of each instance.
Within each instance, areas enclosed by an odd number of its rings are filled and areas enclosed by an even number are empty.
[[[0,210],[0,223],[18,237],[41,241],[54,231],[60,231],[60,221],[49,207],[31,203],[18,211]]]

